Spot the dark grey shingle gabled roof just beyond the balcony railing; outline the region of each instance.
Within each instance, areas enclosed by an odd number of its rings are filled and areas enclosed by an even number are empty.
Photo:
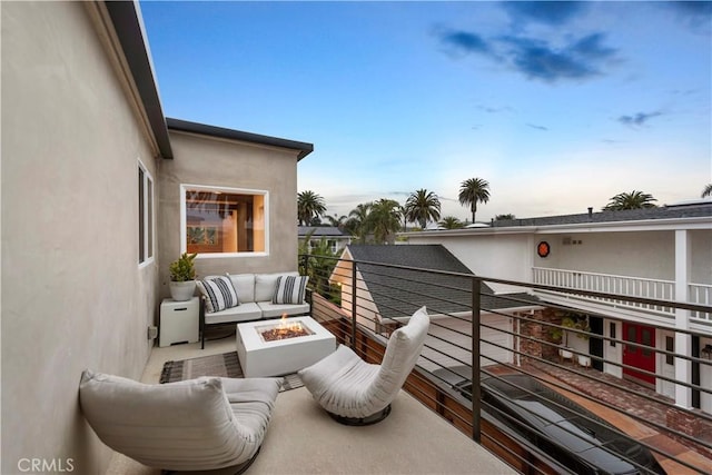
[[[357,269],[364,278],[374,303],[383,318],[402,318],[422,306],[432,314],[456,314],[472,308],[472,279],[474,274],[442,245],[350,245],[347,247]],[[413,267],[432,271],[383,267],[377,263]],[[484,310],[536,305],[530,294],[495,296],[486,284],[481,285],[481,308]],[[518,299],[525,300],[517,301]]]

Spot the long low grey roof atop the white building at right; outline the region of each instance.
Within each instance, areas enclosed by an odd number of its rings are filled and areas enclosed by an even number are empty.
[[[505,219],[492,222],[493,227],[553,226],[590,222],[644,221],[652,219],[712,217],[712,201],[661,206],[656,208],[626,209],[622,211],[582,212],[580,215],[546,216],[540,218]]]

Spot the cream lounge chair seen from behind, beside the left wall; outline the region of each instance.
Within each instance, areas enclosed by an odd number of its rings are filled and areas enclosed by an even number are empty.
[[[241,473],[259,453],[280,382],[200,377],[147,385],[87,369],[79,400],[101,442],[141,464]]]

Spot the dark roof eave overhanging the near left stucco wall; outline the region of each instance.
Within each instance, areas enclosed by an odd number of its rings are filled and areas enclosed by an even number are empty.
[[[174,158],[166,118],[160,105],[158,87],[148,49],[140,7],[135,1],[105,1],[134,82],[141,98],[149,127],[162,158]]]

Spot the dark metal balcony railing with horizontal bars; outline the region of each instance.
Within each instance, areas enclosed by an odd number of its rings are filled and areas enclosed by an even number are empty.
[[[389,334],[425,305],[432,317],[428,339],[405,389],[520,472],[577,473],[583,468],[572,468],[570,462],[575,456],[560,456],[561,446],[546,448],[531,433],[522,435],[513,416],[483,396],[483,377],[530,375],[558,393],[551,404],[561,405],[568,398],[582,407],[593,407],[596,420],[603,418],[612,425],[612,434],[634,439],[669,473],[710,472],[712,355],[705,349],[712,347],[712,337],[645,320],[650,313],[673,315],[676,309],[709,316],[709,286],[695,286],[691,301],[676,303],[672,283],[633,283],[581,273],[542,271],[541,283],[528,284],[313,255],[300,256],[300,270],[310,276],[313,317],[370,363],[380,362]],[[596,279],[597,287],[593,284]],[[487,287],[490,283],[523,291],[495,295]],[[562,305],[550,296],[571,299]],[[620,325],[625,320],[615,313],[578,311],[576,299],[582,297],[639,310],[635,321],[660,331],[660,337],[647,340],[624,335]],[[563,325],[571,317],[585,325]],[[612,334],[613,327],[619,329]],[[566,348],[572,360],[561,358],[562,346],[554,342],[557,334],[573,340]],[[689,345],[675,352],[674,346],[684,346],[684,342]],[[647,355],[654,365],[642,367],[623,354]],[[457,378],[461,379],[453,383]],[[684,402],[683,395],[691,407],[673,399],[678,396]],[[620,404],[626,399],[634,403]],[[590,416],[584,413],[581,417],[587,419]],[[626,434],[636,431],[632,428],[635,426],[644,429]],[[585,437],[563,426],[562,431],[568,437]],[[655,436],[640,436],[651,431]],[[661,438],[669,442],[661,443]],[[670,444],[688,448],[671,449]],[[659,473],[640,466],[639,459],[629,457],[630,453],[601,448],[613,457],[627,459],[640,473]]]

